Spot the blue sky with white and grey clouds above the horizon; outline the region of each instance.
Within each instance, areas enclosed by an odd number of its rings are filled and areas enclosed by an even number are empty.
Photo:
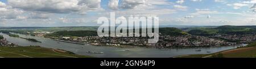
[[[256,25],[256,0],[0,0],[0,27],[98,26],[101,16],[159,25]]]

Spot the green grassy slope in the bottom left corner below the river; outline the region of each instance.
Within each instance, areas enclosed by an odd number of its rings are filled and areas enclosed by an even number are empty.
[[[42,48],[39,46],[3,47],[0,46],[0,57],[5,58],[89,58],[72,54],[68,51]]]

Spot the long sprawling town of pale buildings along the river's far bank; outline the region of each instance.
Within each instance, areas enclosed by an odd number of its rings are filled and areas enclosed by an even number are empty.
[[[231,46],[255,41],[255,35],[213,35],[213,36],[168,36],[161,35],[157,43],[148,43],[149,37],[51,37],[58,40],[87,42],[92,45],[105,46],[141,46],[154,48],[194,48],[210,46]]]

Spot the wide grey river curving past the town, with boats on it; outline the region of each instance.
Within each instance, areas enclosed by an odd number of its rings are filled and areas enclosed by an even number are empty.
[[[21,46],[42,46],[46,48],[53,49],[62,49],[67,51],[72,51],[73,53],[80,55],[90,55],[92,57],[100,57],[100,58],[168,58],[175,57],[178,55],[186,55],[186,54],[208,54],[216,53],[218,51],[229,50],[237,48],[238,46],[222,46],[222,47],[212,47],[212,48],[187,48],[187,49],[170,49],[170,50],[160,50],[155,48],[117,48],[110,46],[93,46],[93,45],[79,45],[79,44],[71,44],[67,42],[55,41],[50,38],[43,37],[35,37],[35,36],[26,36],[20,35],[20,37],[27,38],[35,38],[39,42],[31,42],[24,40],[22,38],[9,37],[6,34],[0,33],[3,35],[7,41],[12,42],[14,44],[18,44]],[[129,51],[126,51],[129,50]],[[196,51],[201,50],[201,51]],[[87,51],[98,51],[104,52],[104,54],[92,54],[86,53]]]

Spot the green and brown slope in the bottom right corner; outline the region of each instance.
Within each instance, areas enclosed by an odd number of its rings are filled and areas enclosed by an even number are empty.
[[[212,55],[222,54],[224,58],[256,58],[256,42],[247,45],[246,48],[220,51],[213,54],[184,55],[177,58],[211,58]]]

